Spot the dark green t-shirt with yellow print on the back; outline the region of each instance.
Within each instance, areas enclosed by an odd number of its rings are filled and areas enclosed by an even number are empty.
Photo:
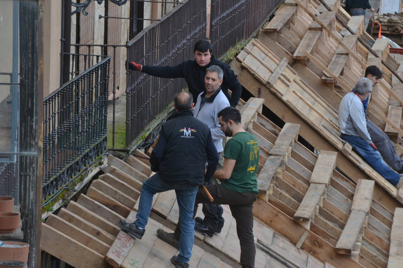
[[[259,144],[249,132],[238,132],[225,145],[224,158],[236,160],[228,180],[221,183],[237,192],[258,193],[256,171],[259,165]]]

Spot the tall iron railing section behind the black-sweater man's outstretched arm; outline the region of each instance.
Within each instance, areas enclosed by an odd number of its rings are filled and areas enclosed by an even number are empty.
[[[206,38],[206,0],[185,0],[161,21],[141,31],[127,44],[127,59],[142,65],[176,65],[193,59],[193,46]],[[127,72],[126,147],[162,113],[187,85],[183,79]]]

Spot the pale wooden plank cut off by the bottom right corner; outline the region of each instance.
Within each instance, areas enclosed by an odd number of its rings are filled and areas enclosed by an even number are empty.
[[[403,263],[403,209],[396,208],[393,216],[388,267],[398,268]]]

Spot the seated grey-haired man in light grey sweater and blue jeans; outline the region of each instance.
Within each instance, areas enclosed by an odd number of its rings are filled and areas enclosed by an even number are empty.
[[[351,144],[353,149],[376,172],[384,177],[388,182],[400,188],[403,186],[401,174],[393,171],[383,161],[382,156],[377,151],[367,130],[364,106],[362,101],[371,93],[372,81],[368,78],[359,78],[353,92],[347,93],[339,106],[339,127],[341,138]]]

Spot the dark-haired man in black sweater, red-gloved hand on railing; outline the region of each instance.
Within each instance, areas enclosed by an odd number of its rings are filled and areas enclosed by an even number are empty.
[[[129,61],[129,69],[141,71],[152,76],[163,78],[185,78],[189,92],[193,95],[193,102],[196,103],[197,96],[204,92],[204,76],[206,69],[211,65],[217,65],[224,71],[224,78],[221,84],[221,90],[233,107],[237,106],[241,98],[242,86],[237,76],[228,65],[216,59],[212,55],[211,43],[207,40],[199,40],[193,48],[195,59],[183,61],[175,66],[147,66]],[[228,89],[232,91],[230,96]]]

